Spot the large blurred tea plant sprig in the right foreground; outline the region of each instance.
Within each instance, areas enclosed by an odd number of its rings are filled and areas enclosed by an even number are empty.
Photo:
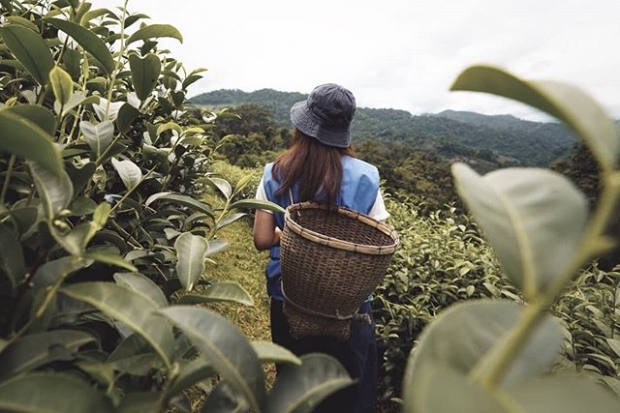
[[[467,69],[453,89],[512,98],[564,121],[600,164],[603,190],[589,216],[585,196],[556,172],[508,168],[480,176],[452,166],[459,196],[526,304],[474,300],[442,312],[408,360],[405,411],[618,411],[620,399],[587,377],[551,373],[566,330],[549,312],[579,270],[615,243],[606,233],[620,194],[614,122],[572,86],[493,67]]]

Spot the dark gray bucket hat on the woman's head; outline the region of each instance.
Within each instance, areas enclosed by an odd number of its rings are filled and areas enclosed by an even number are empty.
[[[348,89],[326,83],[314,88],[308,99],[291,108],[293,125],[305,135],[338,148],[351,144],[350,126],[355,114],[355,97]]]

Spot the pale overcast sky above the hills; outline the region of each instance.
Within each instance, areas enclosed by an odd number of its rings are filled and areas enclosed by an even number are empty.
[[[129,0],[128,8],[179,29],[183,43],[166,43],[173,56],[208,69],[190,96],[309,93],[335,82],[363,107],[537,118],[507,99],[449,91],[482,63],[572,83],[620,117],[618,0]]]

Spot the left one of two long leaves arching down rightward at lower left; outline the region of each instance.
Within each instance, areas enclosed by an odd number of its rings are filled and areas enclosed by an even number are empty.
[[[65,286],[60,292],[125,324],[150,344],[168,369],[172,367],[172,328],[154,314],[157,306],[150,299],[109,282],[82,282]]]

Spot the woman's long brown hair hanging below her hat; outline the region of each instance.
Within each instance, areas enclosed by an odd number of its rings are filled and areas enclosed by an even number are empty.
[[[288,192],[299,182],[298,202],[324,199],[328,205],[334,205],[340,193],[340,158],[344,155],[354,156],[351,147],[327,146],[295,129],[293,145],[274,162],[272,173],[280,182],[276,195]],[[321,199],[317,199],[317,196]]]

